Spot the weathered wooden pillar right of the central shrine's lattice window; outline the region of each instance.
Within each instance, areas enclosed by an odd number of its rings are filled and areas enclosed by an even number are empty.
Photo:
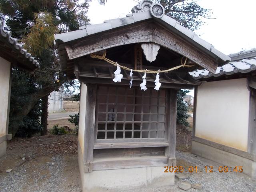
[[[170,90],[169,106],[169,126],[167,138],[169,146],[165,149],[165,156],[168,158],[168,166],[176,165],[175,148],[176,148],[176,120],[177,120],[177,93],[178,90]]]

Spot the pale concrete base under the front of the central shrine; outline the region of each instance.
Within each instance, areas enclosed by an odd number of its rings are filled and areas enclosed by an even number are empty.
[[[83,178],[83,192],[119,192],[174,185],[174,173],[164,173],[164,166],[98,170],[84,173]]]

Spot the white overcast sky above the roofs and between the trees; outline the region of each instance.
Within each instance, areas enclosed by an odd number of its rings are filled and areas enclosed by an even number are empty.
[[[105,6],[92,0],[88,11],[91,24],[126,17],[138,0],[108,0]],[[256,47],[256,0],[198,0],[203,8],[211,9],[212,18],[205,19],[195,31],[224,54],[236,53]],[[192,91],[191,95],[194,94]]]

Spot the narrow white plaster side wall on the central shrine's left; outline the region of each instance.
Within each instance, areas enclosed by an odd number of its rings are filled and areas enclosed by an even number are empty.
[[[84,83],[81,83],[78,142],[80,144],[82,154],[84,154],[84,127],[85,127],[85,115],[86,115],[86,97],[87,97],[87,86]]]

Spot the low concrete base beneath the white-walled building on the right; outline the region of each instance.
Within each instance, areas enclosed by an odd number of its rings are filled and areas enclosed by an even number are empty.
[[[203,158],[210,159],[212,161],[220,163],[220,166],[243,166],[243,173],[250,176],[253,180],[256,180],[255,161],[226,151],[222,151],[220,149],[196,141],[192,141],[192,153]]]

